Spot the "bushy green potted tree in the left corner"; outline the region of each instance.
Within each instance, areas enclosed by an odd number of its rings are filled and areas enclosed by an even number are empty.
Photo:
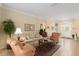
[[[7,19],[2,22],[2,25],[3,25],[4,32],[8,34],[9,37],[11,37],[11,34],[14,33],[15,31],[14,22],[11,19]]]

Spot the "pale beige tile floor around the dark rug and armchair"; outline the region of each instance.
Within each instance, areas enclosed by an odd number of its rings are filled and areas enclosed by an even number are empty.
[[[79,41],[74,39],[60,39],[61,47],[52,56],[79,56]],[[13,52],[0,49],[0,56],[13,56]]]

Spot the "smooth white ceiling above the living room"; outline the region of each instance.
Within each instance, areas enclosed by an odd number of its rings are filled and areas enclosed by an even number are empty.
[[[4,3],[3,6],[45,19],[79,18],[78,3]]]

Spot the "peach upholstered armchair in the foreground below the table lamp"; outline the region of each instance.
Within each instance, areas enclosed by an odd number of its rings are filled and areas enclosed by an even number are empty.
[[[33,56],[35,55],[35,48],[24,42],[20,42],[15,39],[8,39],[7,44],[9,44],[16,56]]]

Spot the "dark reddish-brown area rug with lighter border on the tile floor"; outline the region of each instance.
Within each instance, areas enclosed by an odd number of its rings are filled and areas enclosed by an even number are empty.
[[[51,42],[44,43],[36,47],[35,56],[52,56],[59,48],[60,45]]]

